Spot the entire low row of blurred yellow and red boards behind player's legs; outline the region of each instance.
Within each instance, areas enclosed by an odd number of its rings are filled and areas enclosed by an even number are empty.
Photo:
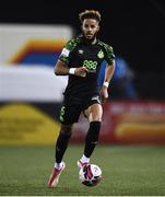
[[[55,144],[61,103],[0,104],[0,144]],[[89,129],[83,115],[74,124],[72,143],[82,143]],[[165,103],[107,102],[99,143],[165,144]]]

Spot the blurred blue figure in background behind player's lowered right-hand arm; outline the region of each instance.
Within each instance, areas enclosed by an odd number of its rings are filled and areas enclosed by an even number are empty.
[[[130,69],[128,62],[120,56],[115,58],[116,69],[111,79],[111,84],[109,85],[109,96],[110,99],[119,100],[135,100],[138,99],[138,93],[135,91],[133,80],[134,72]],[[98,84],[102,86],[104,80],[106,62],[99,71]]]

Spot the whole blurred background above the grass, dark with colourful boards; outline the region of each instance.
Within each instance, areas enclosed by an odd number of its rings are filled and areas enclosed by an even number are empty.
[[[3,1],[0,11],[0,144],[54,144],[67,77],[54,76],[64,44],[80,34],[79,13],[98,10],[99,39],[116,71],[104,105],[101,143],[165,144],[165,2]],[[98,83],[104,79],[103,62]],[[83,142],[89,124],[74,126]]]

